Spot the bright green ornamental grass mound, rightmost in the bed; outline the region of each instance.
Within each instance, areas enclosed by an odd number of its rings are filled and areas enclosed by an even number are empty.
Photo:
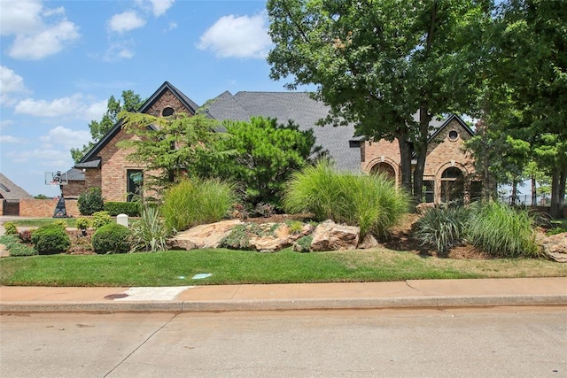
[[[471,206],[467,226],[470,243],[494,257],[537,257],[532,216],[526,210],[491,201]]]

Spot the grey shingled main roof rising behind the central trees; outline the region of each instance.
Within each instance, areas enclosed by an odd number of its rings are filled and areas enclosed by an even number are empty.
[[[206,112],[216,120],[250,120],[251,117],[276,119],[287,124],[293,120],[300,130],[312,128],[316,144],[328,150],[338,169],[361,169],[360,140],[352,126],[316,126],[329,114],[330,107],[315,101],[307,92],[224,92],[206,105]],[[351,147],[353,146],[353,147]]]

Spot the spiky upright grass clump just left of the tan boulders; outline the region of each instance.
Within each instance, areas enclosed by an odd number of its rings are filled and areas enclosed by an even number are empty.
[[[168,236],[165,223],[159,219],[158,209],[146,206],[140,220],[132,224],[130,251],[166,251]]]

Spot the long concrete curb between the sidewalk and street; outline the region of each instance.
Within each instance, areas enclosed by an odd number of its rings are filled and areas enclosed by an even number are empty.
[[[4,302],[0,312],[237,312],[567,305],[565,295],[298,298],[221,301]]]

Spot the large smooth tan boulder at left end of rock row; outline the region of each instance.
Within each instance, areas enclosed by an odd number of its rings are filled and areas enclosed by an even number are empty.
[[[171,246],[173,249],[181,250],[217,248],[222,238],[229,235],[230,230],[239,224],[242,224],[241,220],[222,220],[195,226],[175,235],[171,240]]]

